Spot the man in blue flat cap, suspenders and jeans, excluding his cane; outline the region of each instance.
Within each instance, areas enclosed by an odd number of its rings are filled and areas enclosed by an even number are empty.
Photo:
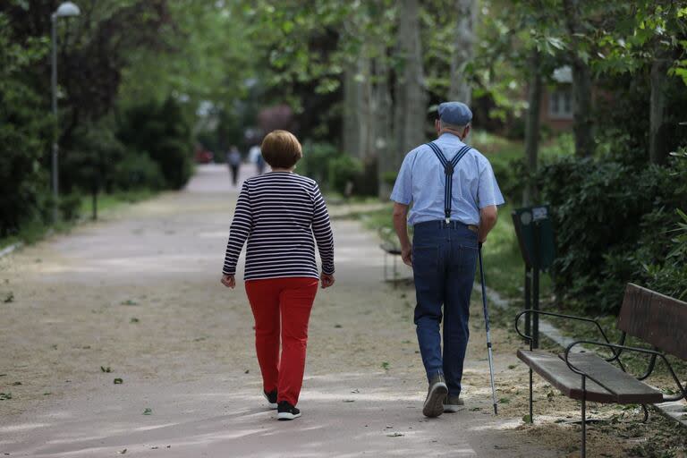
[[[408,153],[391,194],[403,261],[415,279],[415,325],[429,381],[422,408],[427,417],[458,411],[462,405],[478,250],[496,225],[496,206],[504,203],[487,157],[463,142],[471,129],[470,108],[446,102],[438,114],[437,140]]]

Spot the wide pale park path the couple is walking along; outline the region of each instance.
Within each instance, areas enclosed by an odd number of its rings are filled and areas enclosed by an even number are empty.
[[[311,318],[303,416],[276,421],[242,284],[219,283],[236,195],[224,167],[201,166],[186,191],[0,260],[0,456],[558,455],[522,433],[522,403],[490,413],[477,302],[467,406],[422,417],[411,293],[383,283],[375,234],[344,219],[337,283]],[[495,339],[503,396],[517,343]]]

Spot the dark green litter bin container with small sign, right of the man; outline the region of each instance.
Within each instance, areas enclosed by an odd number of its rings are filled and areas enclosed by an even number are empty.
[[[541,270],[551,267],[556,246],[548,206],[517,208],[513,211],[513,226],[525,264]]]

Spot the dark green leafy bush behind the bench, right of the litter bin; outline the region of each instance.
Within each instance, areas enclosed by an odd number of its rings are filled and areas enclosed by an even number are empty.
[[[687,161],[637,168],[566,157],[543,167],[538,182],[556,230],[557,293],[597,312],[615,312],[630,281],[671,293],[649,266],[665,266],[671,252],[675,209],[687,202]]]

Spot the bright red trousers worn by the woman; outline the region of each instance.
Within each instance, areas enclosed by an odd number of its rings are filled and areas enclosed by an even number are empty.
[[[303,385],[308,321],[318,279],[249,280],[246,293],[255,317],[255,348],[265,391],[276,389],[277,402],[296,405]]]

